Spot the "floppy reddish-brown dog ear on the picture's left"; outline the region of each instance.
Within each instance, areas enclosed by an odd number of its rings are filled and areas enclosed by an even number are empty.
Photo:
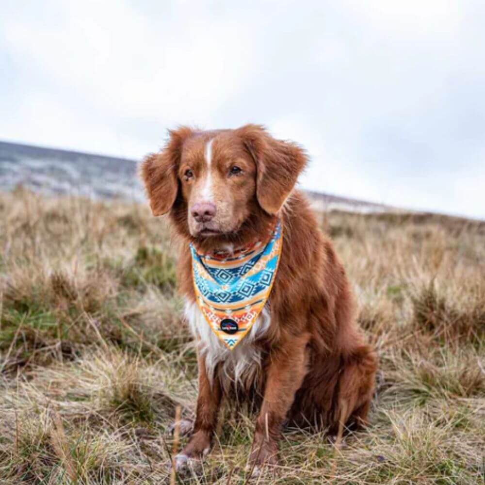
[[[170,138],[162,151],[146,156],[140,166],[140,177],[145,184],[153,215],[165,214],[177,199],[177,171],[182,146],[192,132],[188,127],[170,130]]]

